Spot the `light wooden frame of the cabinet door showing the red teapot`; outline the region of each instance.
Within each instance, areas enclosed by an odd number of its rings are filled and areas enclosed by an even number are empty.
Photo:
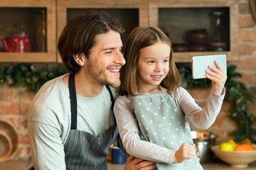
[[[10,0],[4,1],[0,0],[0,8],[13,8],[12,10],[18,9],[19,11],[24,8],[24,13],[26,13],[27,8],[46,8],[46,52],[0,52],[0,62],[56,62],[56,6],[55,0]],[[4,15],[4,13],[0,13]],[[14,13],[16,18],[20,18],[21,21],[31,24],[35,24],[33,13],[27,16],[17,16],[22,15],[22,13]],[[7,17],[8,18],[8,17]],[[30,20],[31,19],[31,20]],[[14,21],[13,22],[17,22]],[[1,23],[1,21],[0,21]],[[4,25],[4,23],[3,23]],[[36,28],[35,28],[36,29]],[[0,35],[2,35],[0,29]]]

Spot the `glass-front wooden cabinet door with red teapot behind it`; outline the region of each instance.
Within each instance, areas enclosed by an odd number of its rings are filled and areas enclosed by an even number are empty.
[[[0,0],[0,62],[56,62],[55,0]]]

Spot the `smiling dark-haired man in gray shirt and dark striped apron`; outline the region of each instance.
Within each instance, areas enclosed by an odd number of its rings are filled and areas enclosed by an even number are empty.
[[[27,169],[107,169],[108,149],[118,133],[112,87],[120,85],[125,63],[123,32],[105,12],[79,13],[68,21],[58,50],[69,74],[44,84],[31,103]],[[127,159],[125,169],[141,168],[156,165]]]

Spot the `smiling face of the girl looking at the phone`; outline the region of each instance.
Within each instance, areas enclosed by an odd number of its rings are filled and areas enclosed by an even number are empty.
[[[139,54],[139,92],[154,94],[169,72],[171,47],[165,42],[156,42],[144,47]]]

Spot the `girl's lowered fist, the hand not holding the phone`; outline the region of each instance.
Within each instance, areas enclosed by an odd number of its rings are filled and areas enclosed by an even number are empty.
[[[193,154],[195,154],[196,145],[183,143],[180,148],[176,151],[174,156],[174,163],[181,163],[185,159],[191,159]]]

